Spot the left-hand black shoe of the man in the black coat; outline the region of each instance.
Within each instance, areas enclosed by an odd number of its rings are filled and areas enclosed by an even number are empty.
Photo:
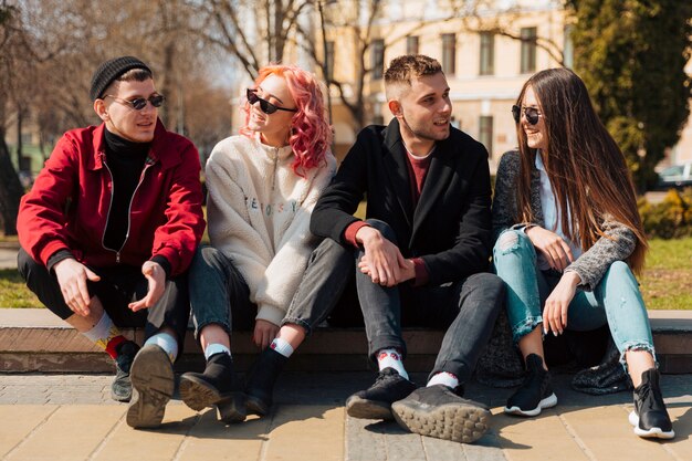
[[[396,369],[387,367],[373,386],[346,399],[346,412],[352,418],[391,419],[391,404],[407,397],[417,387]]]

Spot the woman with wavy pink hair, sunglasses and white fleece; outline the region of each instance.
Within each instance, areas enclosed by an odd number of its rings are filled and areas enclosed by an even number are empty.
[[[207,161],[211,247],[198,250],[189,273],[207,366],[180,378],[182,400],[193,410],[216,406],[224,422],[265,415],[271,406],[283,364],[275,349],[286,343],[280,325],[315,248],[310,216],[336,170],[312,74],[290,65],[263,67],[243,112],[240,135],[221,140]],[[285,336],[292,328],[300,327],[281,329]],[[262,349],[255,369],[263,373],[251,374],[247,387],[233,373],[232,329],[252,329]]]

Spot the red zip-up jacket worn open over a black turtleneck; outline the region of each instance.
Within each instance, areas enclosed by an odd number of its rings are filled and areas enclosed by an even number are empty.
[[[105,125],[63,135],[20,205],[22,248],[38,262],[69,250],[94,268],[140,266],[154,256],[185,272],[205,231],[200,163],[195,145],[157,121],[154,140],[130,203],[127,239],[104,248],[113,179],[106,165]]]

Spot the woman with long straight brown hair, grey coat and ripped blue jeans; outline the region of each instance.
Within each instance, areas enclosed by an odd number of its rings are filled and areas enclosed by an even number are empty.
[[[553,407],[543,335],[608,324],[635,385],[640,437],[674,437],[656,369],[651,327],[633,274],[647,239],[625,157],[584,82],[566,69],[533,75],[512,107],[518,150],[497,168],[493,259],[526,378],[505,412]]]

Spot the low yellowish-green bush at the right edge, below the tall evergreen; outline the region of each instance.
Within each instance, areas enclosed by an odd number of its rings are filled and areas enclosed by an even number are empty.
[[[682,192],[671,189],[660,203],[639,200],[639,213],[647,235],[660,239],[679,239],[692,235],[692,188]]]

